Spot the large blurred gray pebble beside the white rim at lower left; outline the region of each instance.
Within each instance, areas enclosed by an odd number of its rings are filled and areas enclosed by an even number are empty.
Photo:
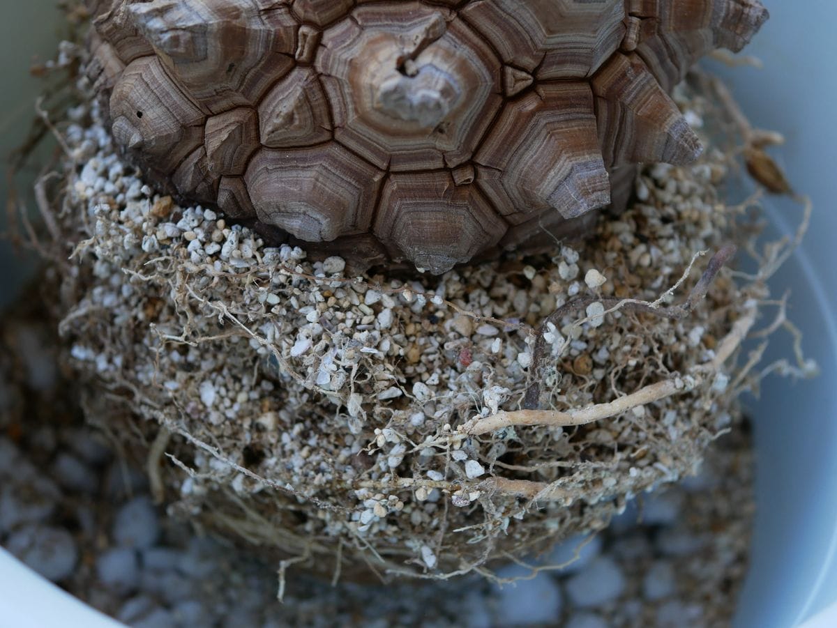
[[[79,559],[79,549],[72,534],[64,528],[39,524],[11,534],[6,549],[53,582],[72,574]]]

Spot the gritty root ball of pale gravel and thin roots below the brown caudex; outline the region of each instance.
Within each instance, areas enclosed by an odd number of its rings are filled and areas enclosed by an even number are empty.
[[[796,242],[724,268],[731,242],[756,253],[756,199],[725,204],[734,151],[707,132],[735,125],[711,89],[675,100],[703,127],[696,164],[645,168],[583,244],[439,277],[267,247],[157,194],[98,105],[75,110],[50,216],[88,411],[146,452],[170,513],[275,550],[282,574],[490,577],[604,528],[737,421],[761,371],[758,349],[734,358],[763,308],[783,314],[765,280]]]

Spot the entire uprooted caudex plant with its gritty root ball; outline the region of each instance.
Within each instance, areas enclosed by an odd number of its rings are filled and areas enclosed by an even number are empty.
[[[757,0],[87,4],[61,331],[176,512],[334,574],[489,574],[690,472],[760,307],[787,324],[788,248],[725,268],[750,204],[708,130],[788,191],[776,138],[675,88]]]

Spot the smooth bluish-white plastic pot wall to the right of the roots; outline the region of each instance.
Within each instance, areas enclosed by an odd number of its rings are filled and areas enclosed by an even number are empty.
[[[747,400],[758,511],[737,625],[788,628],[837,601],[837,2],[763,1],[771,18],[746,52],[764,68],[707,65],[727,77],[754,125],[783,132],[776,154],[814,200],[803,249],[773,292],[792,290],[790,315],[822,374],[767,380],[761,400]],[[792,232],[800,216],[790,202],[768,212],[778,232]]]

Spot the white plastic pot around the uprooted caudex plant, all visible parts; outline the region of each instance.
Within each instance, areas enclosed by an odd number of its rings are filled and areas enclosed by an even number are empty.
[[[796,384],[768,380],[761,399],[747,400],[755,426],[758,510],[737,625],[790,628],[810,620],[811,628],[824,628],[837,626],[837,607],[829,611],[837,603],[837,2],[763,2],[772,17],[746,53],[762,59],[764,68],[707,66],[732,84],[755,125],[783,132],[788,143],[780,161],[793,186],[814,199],[804,247],[778,273],[773,292],[792,289],[791,316],[804,330],[804,349],[822,374]],[[9,133],[19,129],[19,122],[9,120],[28,119],[25,103],[37,89],[26,77],[28,60],[35,51],[49,56],[54,49],[54,4],[30,0],[3,6],[4,153],[20,137],[19,131],[16,138]],[[768,212],[776,232],[793,232],[800,217],[798,206],[781,200],[768,202]],[[13,276],[20,270],[3,248],[0,241],[0,304],[12,297]],[[3,550],[0,624],[116,625]]]

